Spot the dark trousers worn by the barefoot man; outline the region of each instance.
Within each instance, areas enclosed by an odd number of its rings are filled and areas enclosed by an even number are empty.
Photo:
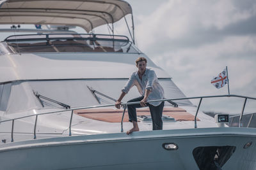
[[[137,97],[129,100],[128,103],[141,101],[143,98],[144,96]],[[162,130],[163,129],[162,115],[163,115],[164,102],[162,102],[158,106],[153,106],[152,104],[147,104],[147,106],[149,107],[149,110],[150,110],[153,130]],[[136,108],[141,108],[140,104],[130,104],[130,105],[127,105],[127,108],[128,108],[129,122],[132,122],[132,121],[137,122]]]

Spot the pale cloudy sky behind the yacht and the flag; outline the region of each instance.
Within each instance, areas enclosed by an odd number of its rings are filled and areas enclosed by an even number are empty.
[[[136,46],[162,67],[187,97],[228,94],[211,80],[228,67],[230,94],[256,98],[255,0],[127,0],[132,6]],[[128,22],[131,16],[127,15]],[[101,28],[99,28],[100,30]],[[96,29],[97,30],[97,29]],[[124,20],[116,34],[126,34]],[[244,99],[203,101],[204,110],[239,113]],[[192,101],[198,104],[198,101]],[[245,111],[255,111],[248,101]]]

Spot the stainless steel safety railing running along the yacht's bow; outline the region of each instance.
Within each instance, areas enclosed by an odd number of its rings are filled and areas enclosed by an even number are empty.
[[[239,95],[232,95],[232,94],[230,94],[230,95],[220,95],[220,96],[200,96],[200,97],[182,97],[182,98],[175,98],[175,99],[159,99],[159,100],[147,101],[147,103],[157,102],[157,101],[178,101],[178,100],[188,100],[188,99],[200,99],[200,102],[198,104],[198,107],[197,107],[197,110],[196,110],[196,114],[195,114],[195,128],[197,128],[196,117],[197,117],[200,105],[202,103],[202,99],[204,99],[204,98],[214,98],[214,97],[239,97],[239,98],[244,98],[245,99],[244,100],[244,104],[243,104],[243,108],[242,108],[242,111],[241,111],[240,119],[239,119],[239,127],[242,126],[241,121],[242,121],[242,118],[243,118],[244,108],[245,108],[247,99],[256,100],[255,97],[247,97],[247,96],[239,96]],[[121,120],[121,132],[124,132],[123,120],[124,120],[125,109],[127,108],[127,105],[130,105],[130,104],[140,104],[140,101],[139,102],[131,102],[131,103],[122,103],[122,106],[124,106],[124,111],[123,111],[122,120]],[[106,104],[106,105],[99,105],[99,106],[88,106],[88,107],[81,107],[81,108],[70,108],[68,110],[50,111],[50,112],[47,112],[47,113],[38,113],[36,115],[28,115],[28,116],[25,116],[25,117],[19,117],[19,118],[12,118],[12,119],[8,119],[8,120],[2,120],[2,121],[0,121],[0,123],[12,121],[11,137],[12,137],[12,142],[13,142],[14,141],[13,140],[14,120],[19,120],[19,119],[28,118],[28,117],[36,117],[36,119],[35,119],[35,126],[34,126],[34,139],[36,139],[36,123],[37,123],[38,116],[40,116],[40,115],[49,115],[49,114],[52,114],[52,113],[60,113],[60,112],[64,112],[64,111],[71,111],[71,117],[70,117],[70,122],[69,122],[69,136],[72,136],[71,125],[72,125],[72,117],[73,117],[74,110],[82,110],[82,109],[90,109],[90,108],[104,108],[104,107],[109,107],[109,106],[115,106],[115,104]]]

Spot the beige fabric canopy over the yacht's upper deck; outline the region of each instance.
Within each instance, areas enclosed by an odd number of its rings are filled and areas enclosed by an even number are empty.
[[[87,32],[132,14],[130,4],[121,0],[6,0],[0,3],[0,24],[76,25]]]

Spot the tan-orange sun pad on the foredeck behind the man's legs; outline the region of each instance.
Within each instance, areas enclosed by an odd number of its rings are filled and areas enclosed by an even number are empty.
[[[98,108],[88,110],[76,110],[75,113],[82,117],[91,118],[93,120],[100,120],[104,122],[118,123],[122,119],[123,110],[116,110],[114,108]],[[137,110],[137,116],[150,115],[149,108],[140,108]],[[188,113],[182,108],[164,108],[163,115],[173,117],[176,121],[194,121],[195,116]],[[199,118],[196,118],[200,121]],[[140,120],[139,120],[140,121]],[[129,122],[127,111],[125,111],[124,121]]]

